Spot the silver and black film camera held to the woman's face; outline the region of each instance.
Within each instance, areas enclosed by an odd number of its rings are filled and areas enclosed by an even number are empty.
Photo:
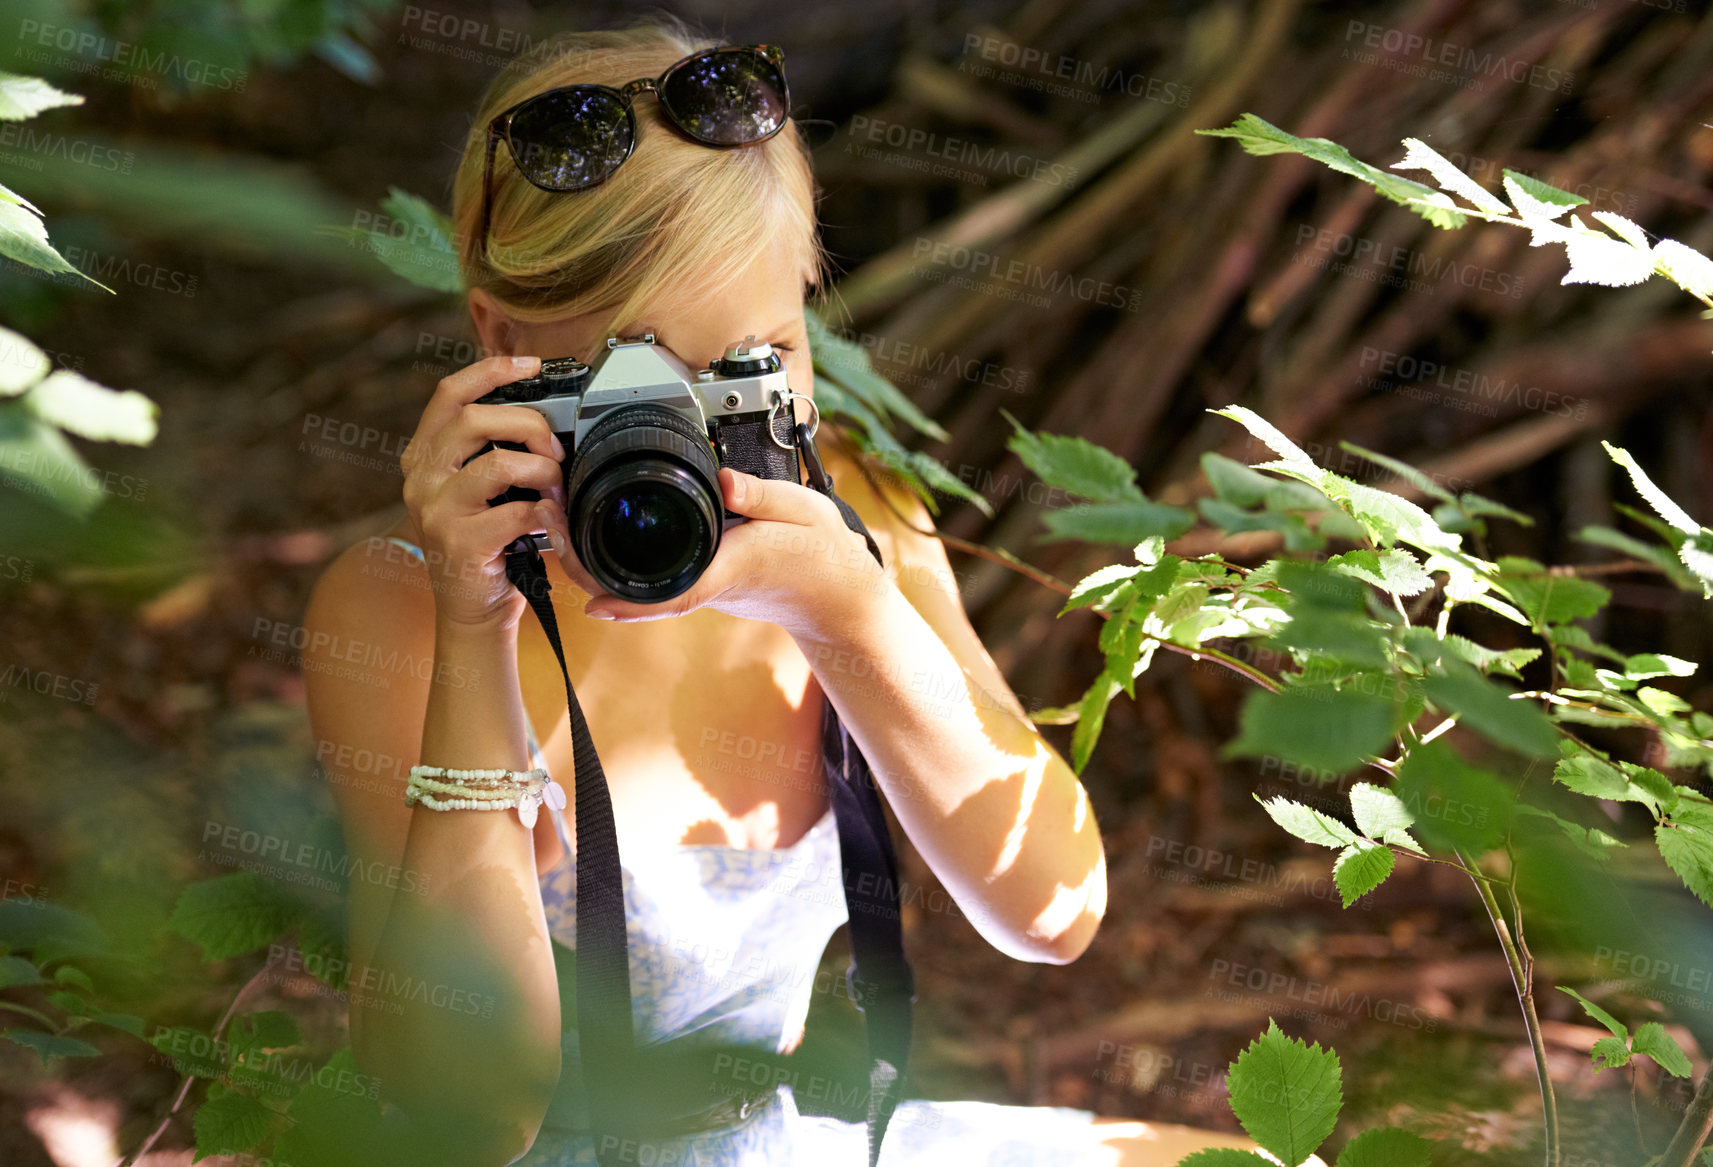
[[[692,372],[648,334],[608,338],[588,365],[543,360],[540,374],[476,404],[522,406],[548,420],[565,447],[565,518],[577,560],[612,595],[658,603],[689,591],[721,533],[745,521],[721,500],[721,466],[798,482],[795,396],[779,355],[754,336]],[[481,452],[495,446],[524,449],[490,442]],[[509,487],[488,506],[540,497]],[[548,547],[546,535],[519,543]]]

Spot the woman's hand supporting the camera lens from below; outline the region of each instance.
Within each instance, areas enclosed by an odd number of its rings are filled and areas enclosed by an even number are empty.
[[[565,514],[548,500],[550,536],[565,571],[591,600],[584,613],[598,620],[661,620],[714,608],[747,620],[767,620],[797,634],[826,632],[860,619],[892,583],[862,535],[845,524],[833,499],[776,478],[719,470],[725,504],[747,523],[719,538],[719,550],[695,584],[660,603],[620,600],[594,584],[569,550]]]

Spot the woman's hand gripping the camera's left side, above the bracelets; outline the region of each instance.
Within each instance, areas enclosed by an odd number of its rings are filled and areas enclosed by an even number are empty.
[[[514,404],[471,404],[540,368],[538,356],[490,356],[445,377],[399,459],[404,506],[421,536],[440,620],[516,629],[526,601],[505,578],[505,548],[564,514],[565,449],[546,418]],[[476,458],[488,442],[528,449]],[[488,506],[514,485],[533,487],[543,500]]]

